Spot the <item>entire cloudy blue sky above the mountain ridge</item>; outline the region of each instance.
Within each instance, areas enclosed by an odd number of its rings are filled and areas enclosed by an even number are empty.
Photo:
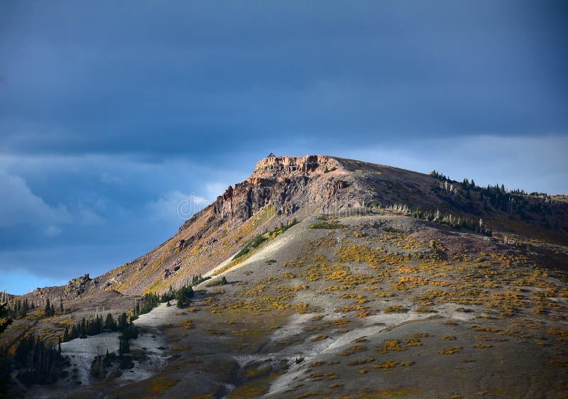
[[[568,193],[567,17],[546,0],[4,0],[0,290],[146,253],[271,152]]]

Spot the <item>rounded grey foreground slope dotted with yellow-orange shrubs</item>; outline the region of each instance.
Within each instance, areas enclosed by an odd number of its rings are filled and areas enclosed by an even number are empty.
[[[566,273],[409,217],[320,222],[144,315],[168,361],[100,397],[568,395]]]

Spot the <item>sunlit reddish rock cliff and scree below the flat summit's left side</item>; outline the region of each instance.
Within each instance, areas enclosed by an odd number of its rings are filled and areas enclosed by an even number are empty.
[[[361,207],[353,174],[324,155],[269,156],[251,176],[229,186],[178,234],[140,258],[89,283],[125,294],[177,287],[238,252],[254,236],[292,219]]]

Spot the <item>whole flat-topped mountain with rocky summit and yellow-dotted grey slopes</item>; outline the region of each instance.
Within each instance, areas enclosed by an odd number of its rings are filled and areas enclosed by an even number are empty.
[[[134,322],[136,378],[109,371],[56,391],[562,397],[567,245],[562,196],[271,154],[140,258],[22,297],[62,297],[67,311],[32,310],[5,334],[35,323],[58,337],[77,315],[116,314],[193,282],[189,305],[163,303]]]

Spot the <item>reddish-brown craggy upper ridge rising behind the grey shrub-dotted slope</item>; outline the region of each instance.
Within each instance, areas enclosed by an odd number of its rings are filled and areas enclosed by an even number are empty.
[[[141,294],[186,283],[237,253],[254,236],[319,214],[365,214],[381,207],[420,211],[427,219],[477,226],[501,234],[549,234],[567,242],[568,207],[550,198],[464,185],[425,175],[327,155],[268,156],[251,176],[229,186],[178,234],[140,258],[95,278],[91,290]],[[436,212],[438,217],[436,218]],[[459,219],[459,222],[458,222]],[[564,229],[562,229],[564,227]]]

